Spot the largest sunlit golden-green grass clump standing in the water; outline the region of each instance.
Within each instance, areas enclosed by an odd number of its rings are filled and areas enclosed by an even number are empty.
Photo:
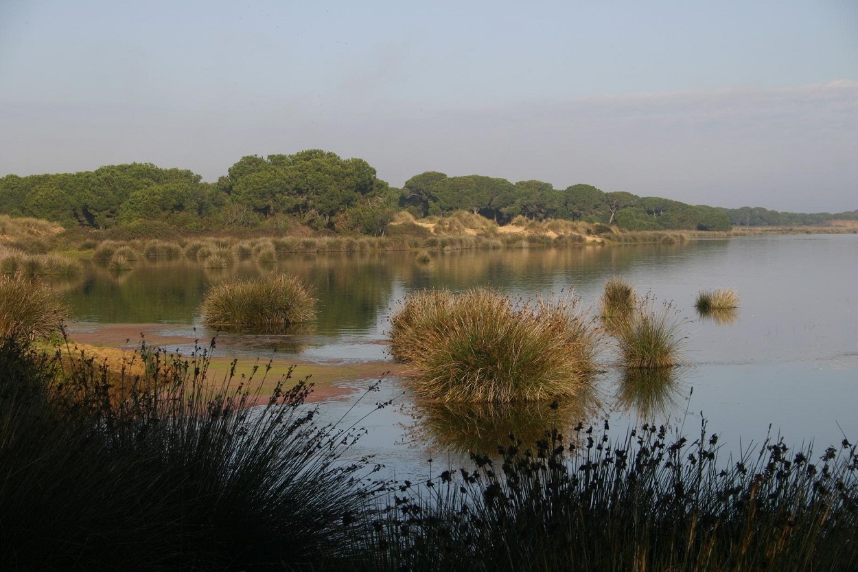
[[[418,399],[511,402],[572,397],[594,369],[597,334],[577,300],[513,304],[490,289],[409,295],[390,319],[391,353]]]

